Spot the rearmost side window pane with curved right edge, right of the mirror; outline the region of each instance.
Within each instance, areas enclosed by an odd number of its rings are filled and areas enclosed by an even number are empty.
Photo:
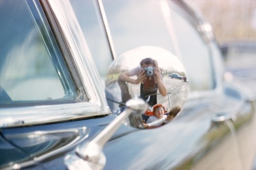
[[[187,71],[190,90],[214,88],[210,51],[206,41],[198,32],[197,25],[193,25],[193,20],[185,18],[174,9],[170,10],[170,17]]]

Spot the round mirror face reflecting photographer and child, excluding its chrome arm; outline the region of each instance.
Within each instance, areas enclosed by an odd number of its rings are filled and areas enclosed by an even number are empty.
[[[170,122],[181,110],[188,92],[185,68],[179,59],[157,46],[140,46],[118,56],[105,81],[106,99],[113,113],[138,96],[150,108],[129,123],[137,128],[155,128]]]

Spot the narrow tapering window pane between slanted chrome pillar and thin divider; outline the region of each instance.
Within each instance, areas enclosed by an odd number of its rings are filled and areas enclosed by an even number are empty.
[[[79,25],[104,85],[106,72],[112,62],[112,55],[104,32],[103,22],[98,14],[96,1],[72,0]]]

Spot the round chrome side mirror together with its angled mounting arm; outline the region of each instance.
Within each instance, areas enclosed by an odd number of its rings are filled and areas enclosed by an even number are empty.
[[[154,61],[154,64],[141,64],[147,58],[151,58],[150,61]],[[129,70],[134,68],[139,68],[137,77],[122,78],[124,74],[132,76]],[[151,83],[157,84],[157,89]],[[145,125],[150,124],[147,124],[146,119],[151,117],[147,113],[152,112],[152,106],[155,110],[166,110],[168,115],[163,123],[168,123],[180,112],[187,98],[188,84],[185,69],[176,56],[163,48],[142,46],[123,53],[113,61],[106,79],[105,91],[110,108],[118,116],[90,142],[81,143],[75,151],[65,156],[68,169],[102,169],[106,162],[102,152],[105,143],[125,119],[133,127],[147,128]],[[141,91],[146,95],[141,96]],[[156,108],[159,105],[162,107]],[[152,116],[157,117],[156,114]]]

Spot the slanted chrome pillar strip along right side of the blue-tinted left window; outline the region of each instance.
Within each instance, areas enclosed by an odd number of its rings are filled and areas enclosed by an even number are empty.
[[[49,4],[58,20],[63,36],[69,43],[70,53],[83,83],[83,88],[91,96],[90,103],[98,111],[108,112],[99,74],[70,2],[67,0],[49,1]]]

